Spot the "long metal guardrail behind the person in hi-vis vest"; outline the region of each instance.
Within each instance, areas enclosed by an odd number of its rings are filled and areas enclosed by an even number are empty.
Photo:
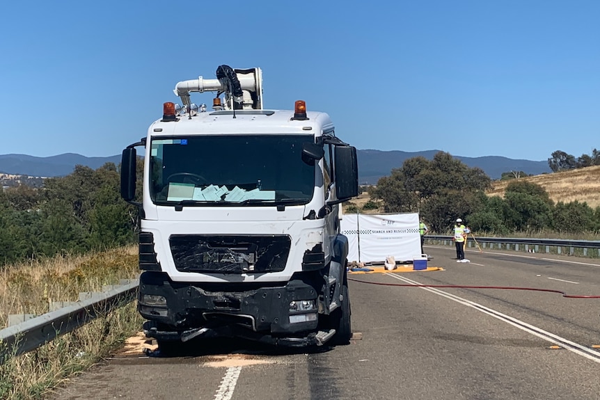
[[[431,241],[442,241],[445,244],[452,243],[453,237],[442,236],[442,235],[426,235],[425,241],[431,243]],[[584,256],[600,257],[600,241],[592,240],[565,240],[565,239],[531,239],[531,238],[507,238],[507,237],[477,237],[473,240],[472,235],[467,239],[467,246],[475,246],[475,241],[480,244],[482,248],[488,247],[494,248],[494,245],[498,245],[498,249],[505,250],[520,250],[520,246],[523,246],[523,250],[532,250],[538,253],[540,250],[544,250],[544,253],[551,253],[551,248],[556,249],[556,253],[562,254],[562,248],[569,248],[569,254],[574,254],[574,249],[583,249]],[[450,242],[450,243],[448,243]],[[503,247],[504,245],[504,247]],[[596,255],[592,255],[589,250],[597,250]]]

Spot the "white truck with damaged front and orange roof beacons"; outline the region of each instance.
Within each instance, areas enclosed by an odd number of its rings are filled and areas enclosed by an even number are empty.
[[[340,203],[358,195],[356,149],[303,101],[263,109],[260,68],[221,65],[216,79],[182,81],[174,91],[183,104],[164,103],[121,165],[121,195],[140,210],[145,334],[159,349],[214,336],[347,344]],[[194,92],[215,92],[214,111],[191,103]]]

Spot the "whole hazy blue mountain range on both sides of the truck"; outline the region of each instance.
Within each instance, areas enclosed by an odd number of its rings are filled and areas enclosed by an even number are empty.
[[[377,184],[380,177],[390,175],[393,168],[400,168],[404,160],[419,156],[431,160],[437,152],[439,150],[423,152],[357,150],[358,182],[360,184]],[[508,171],[523,171],[528,175],[551,172],[547,161],[509,159],[498,156],[453,157],[471,168],[481,168],[491,179],[500,179],[502,173]],[[103,166],[104,163],[111,162],[118,165],[120,161],[120,154],[111,157],[85,157],[74,153],[59,154],[52,157],[0,154],[0,173],[29,175],[32,177],[60,177],[72,173],[76,165],[97,169]]]

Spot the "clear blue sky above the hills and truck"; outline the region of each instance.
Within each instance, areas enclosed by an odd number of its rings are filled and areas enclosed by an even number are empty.
[[[178,81],[261,67],[358,149],[600,149],[600,1],[3,1],[0,154],[120,154]],[[210,102],[211,95],[196,95]]]

